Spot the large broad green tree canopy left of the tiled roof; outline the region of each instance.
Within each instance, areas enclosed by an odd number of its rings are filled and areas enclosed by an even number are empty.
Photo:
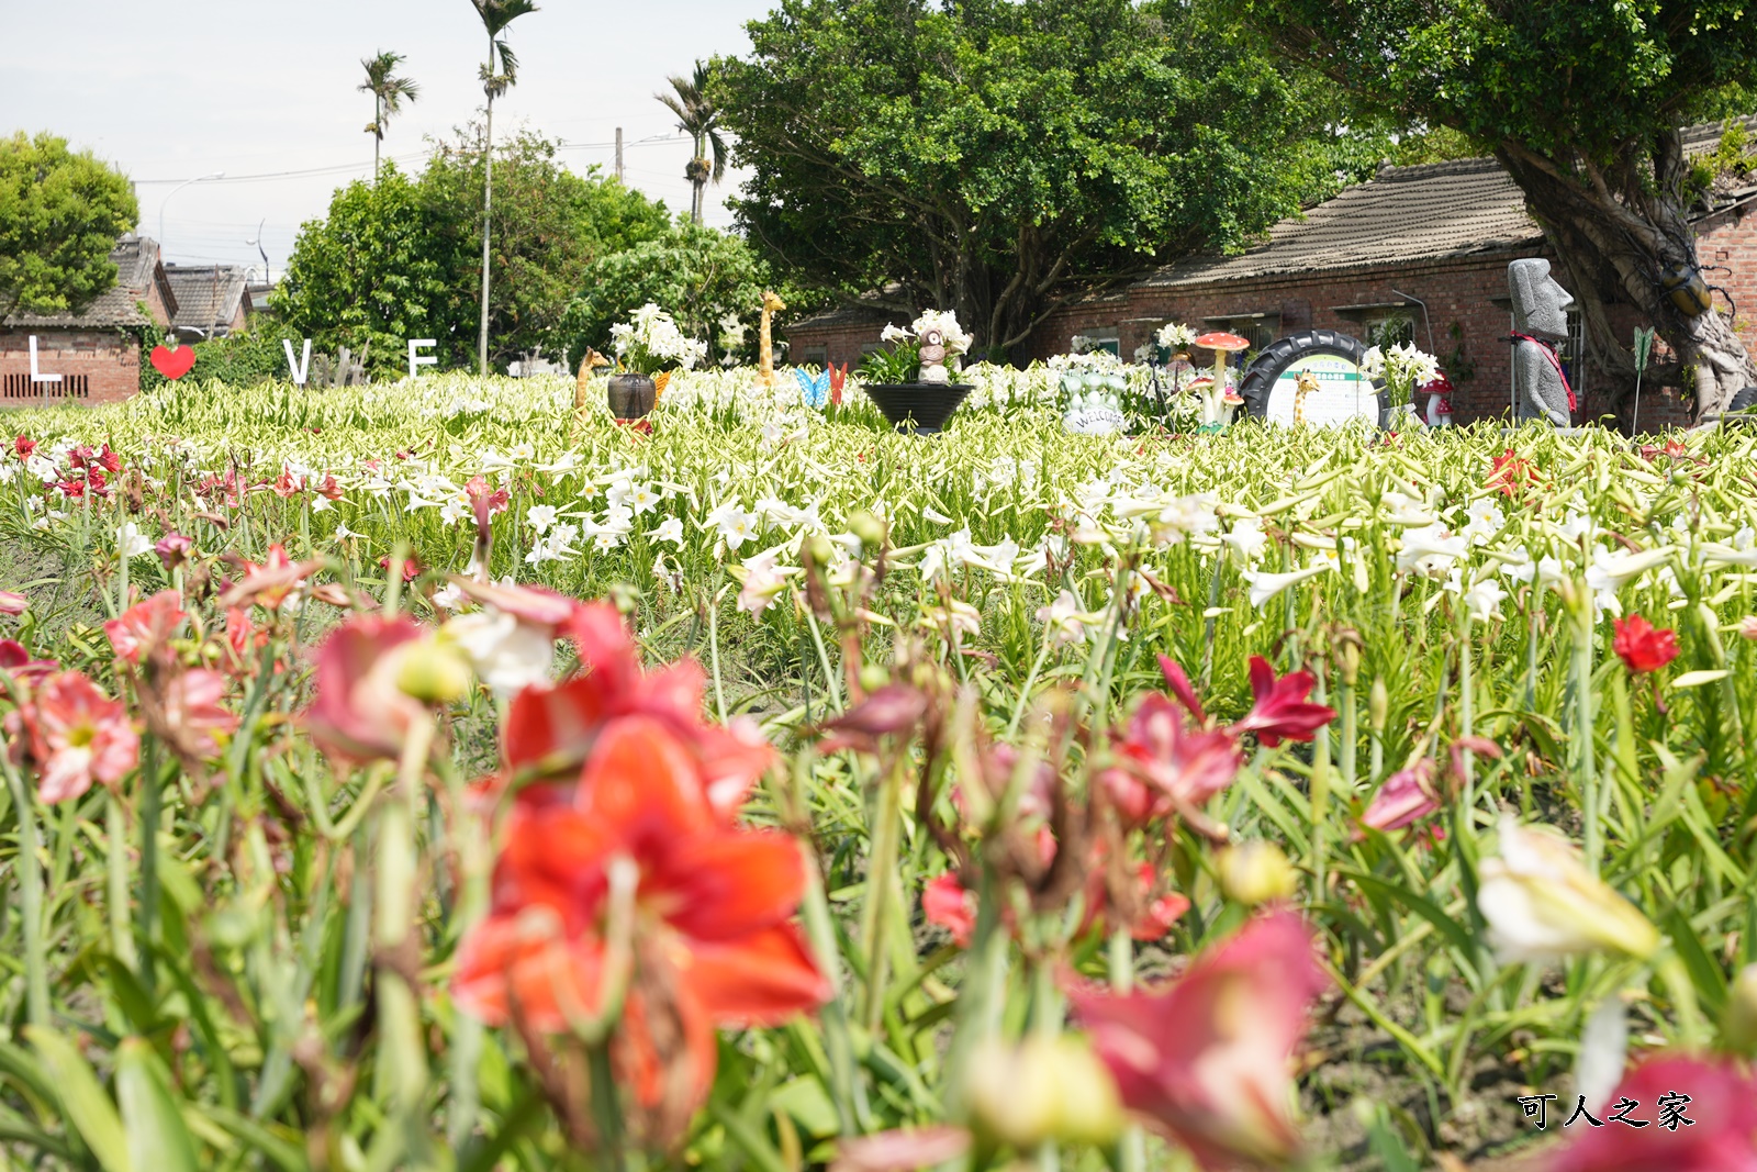
[[[989,351],[1156,258],[1244,246],[1358,149],[1323,91],[1181,5],[782,0],[748,33],[715,91],[750,239],[842,297],[956,309]]]

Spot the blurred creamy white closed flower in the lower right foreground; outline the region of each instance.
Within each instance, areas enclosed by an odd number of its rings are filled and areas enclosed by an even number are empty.
[[[1500,854],[1483,859],[1476,907],[1502,963],[1550,961],[1599,949],[1648,958],[1659,933],[1629,900],[1592,875],[1571,843],[1500,819]]]

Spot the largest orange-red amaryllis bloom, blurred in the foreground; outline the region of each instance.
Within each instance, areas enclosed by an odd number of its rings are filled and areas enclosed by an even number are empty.
[[[791,917],[798,843],[731,828],[685,745],[659,720],[610,726],[578,789],[525,791],[508,821],[487,919],[452,991],[490,1024],[560,1033],[604,1010],[611,887],[633,884],[633,965],[613,1056],[645,1112],[683,1119],[706,1096],[715,1026],[778,1024],[829,996]]]

